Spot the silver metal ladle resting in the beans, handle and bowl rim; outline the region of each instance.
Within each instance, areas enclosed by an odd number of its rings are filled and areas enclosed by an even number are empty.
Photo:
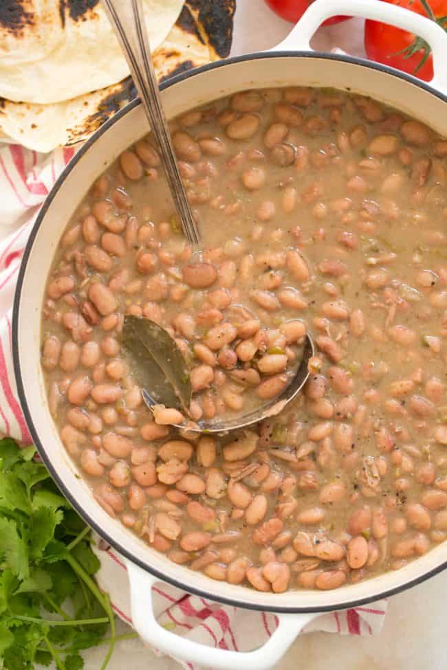
[[[141,0],[102,0],[102,3],[129,65],[133,82],[142,101],[151,130],[157,139],[166,171],[166,178],[184,236],[188,242],[197,245],[200,240],[199,230],[197,229],[197,224],[195,223],[188,198],[186,197],[185,188],[175,159],[168,122],[162,108],[160,91],[152,64],[149,39],[147,38],[142,2]],[[226,421],[199,421],[197,423],[190,423],[187,427],[185,425],[177,425],[176,427],[179,429],[186,428],[188,431],[196,433],[226,433],[230,430],[246,428],[264,418],[276,416],[296,397],[305,385],[309,377],[309,358],[313,355],[314,342],[312,341],[312,337],[307,335],[303,358],[292,381],[279,396],[261,405],[259,409]],[[152,409],[157,404],[157,401],[145,389],[142,389],[142,397],[149,409]]]

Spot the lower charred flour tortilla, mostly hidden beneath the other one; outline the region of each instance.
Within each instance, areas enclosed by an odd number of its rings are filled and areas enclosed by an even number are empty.
[[[235,0],[186,0],[177,23],[153,53],[159,81],[228,56],[234,13]],[[135,96],[133,82],[127,77],[55,104],[0,98],[0,142],[20,142],[43,152],[82,142]]]

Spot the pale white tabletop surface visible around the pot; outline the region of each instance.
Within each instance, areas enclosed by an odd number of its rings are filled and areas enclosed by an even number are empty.
[[[278,19],[263,0],[239,0],[232,54],[262,51],[279,43],[290,24]],[[362,55],[362,23],[323,28],[312,46],[319,50],[340,47]],[[395,596],[389,607],[384,631],[375,638],[343,638],[329,634],[308,634],[296,640],[279,663],[279,670],[292,670],[305,660],[306,670],[444,670],[444,588],[447,574],[441,574],[411,591]],[[120,625],[120,632],[128,628]],[[100,667],[104,647],[86,654],[86,669]],[[110,670],[177,670],[176,662],[156,658],[136,640],[118,645]]]

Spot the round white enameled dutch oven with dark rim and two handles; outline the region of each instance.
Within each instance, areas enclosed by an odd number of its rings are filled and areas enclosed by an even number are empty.
[[[336,14],[385,21],[422,36],[433,50],[435,78],[412,76],[360,58],[313,52],[309,40]],[[336,87],[371,96],[447,136],[447,36],[433,21],[379,0],[317,0],[289,36],[271,52],[212,63],[162,85],[168,117],[243,89]],[[54,479],[85,520],[127,559],[133,624],[148,643],[168,654],[219,669],[263,670],[281,658],[301,628],[320,612],[353,607],[419,583],[447,566],[447,542],[396,572],[331,592],[261,593],[212,581],[176,565],[107,515],[79,478],[58,437],[48,409],[40,360],[41,305],[58,240],[91,183],[126,148],[148,131],[135,101],[105,123],[64,170],[39,214],[25,250],[14,302],[14,366],[30,432]],[[398,223],[396,224],[398,225]],[[166,581],[205,598],[253,610],[270,610],[279,626],[268,643],[248,653],[212,649],[160,627],[153,616],[151,585]]]

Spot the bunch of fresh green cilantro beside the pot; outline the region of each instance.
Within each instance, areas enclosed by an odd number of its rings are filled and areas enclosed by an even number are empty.
[[[90,529],[35,454],[0,440],[0,667],[83,670],[79,652],[104,644],[104,670],[116,640],[136,634],[116,636]]]

